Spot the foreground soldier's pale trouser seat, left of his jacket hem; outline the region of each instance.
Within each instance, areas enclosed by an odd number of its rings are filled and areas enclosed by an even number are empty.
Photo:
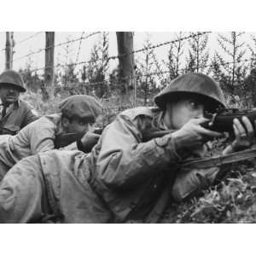
[[[0,222],[27,223],[41,219],[47,211],[44,191],[38,156],[20,160],[0,184]]]

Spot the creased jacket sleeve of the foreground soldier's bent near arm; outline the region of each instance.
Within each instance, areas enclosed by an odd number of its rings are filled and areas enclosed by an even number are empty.
[[[102,134],[96,174],[108,187],[129,189],[177,162],[172,134],[142,143],[137,123],[120,114]]]

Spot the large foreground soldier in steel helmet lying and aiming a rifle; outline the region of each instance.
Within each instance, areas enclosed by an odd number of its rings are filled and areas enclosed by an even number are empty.
[[[159,108],[119,113],[90,154],[52,150],[20,160],[0,184],[0,222],[154,222],[171,196],[182,201],[212,184],[218,167],[183,177],[178,162],[202,156],[204,144],[221,136],[201,127],[205,111],[225,108],[218,84],[201,73],[184,74],[155,102]],[[236,139],[224,154],[251,146],[254,124],[242,122],[247,131],[235,119]],[[143,141],[150,130],[171,132]]]

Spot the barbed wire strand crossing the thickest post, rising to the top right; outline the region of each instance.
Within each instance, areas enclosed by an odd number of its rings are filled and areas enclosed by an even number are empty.
[[[51,67],[47,67],[47,68],[55,68],[55,67],[66,67],[67,65],[73,65],[73,66],[78,66],[78,65],[82,65],[82,64],[90,64],[90,63],[94,63],[94,62],[97,62],[97,61],[110,61],[110,60],[115,60],[115,59],[119,59],[121,57],[124,57],[126,55],[131,55],[131,54],[134,54],[134,53],[139,53],[139,52],[143,52],[145,50],[148,50],[148,49],[155,49],[155,48],[159,48],[161,46],[164,46],[164,45],[167,45],[167,44],[174,44],[174,43],[177,43],[177,42],[180,42],[180,41],[183,41],[183,40],[187,40],[189,38],[195,38],[197,36],[201,36],[201,35],[204,35],[204,34],[207,34],[207,33],[211,33],[211,32],[198,32],[198,33],[192,33],[190,34],[189,36],[187,37],[183,37],[183,38],[177,38],[177,39],[174,39],[172,41],[166,41],[164,43],[161,43],[161,44],[154,44],[150,47],[144,47],[142,49],[136,49],[136,50],[132,50],[128,53],[125,53],[123,55],[113,55],[113,56],[109,56],[108,58],[99,58],[97,60],[91,60],[91,61],[79,61],[79,62],[76,62],[76,63],[72,63],[72,64],[57,64],[55,66],[51,66]],[[39,68],[35,68],[32,70],[32,72],[36,72],[38,70],[43,70],[45,67],[39,67]]]

